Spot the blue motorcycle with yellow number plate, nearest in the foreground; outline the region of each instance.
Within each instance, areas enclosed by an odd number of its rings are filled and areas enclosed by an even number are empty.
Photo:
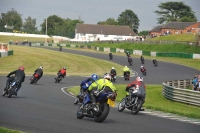
[[[96,96],[95,104],[92,104],[90,96],[86,94],[84,97],[84,102],[78,108],[76,116],[78,119],[82,119],[83,117],[94,118],[95,122],[101,123],[108,116],[110,106],[114,107],[115,98],[115,92],[106,92]]]

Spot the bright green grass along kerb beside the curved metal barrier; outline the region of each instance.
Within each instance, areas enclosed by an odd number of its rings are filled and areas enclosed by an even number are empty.
[[[126,95],[125,87],[126,84],[116,84],[115,87],[117,88],[117,102]],[[146,101],[143,107],[147,109],[153,109],[157,111],[163,111],[167,113],[173,113],[180,116],[186,116],[189,118],[199,118],[200,119],[200,108],[192,105],[186,105],[178,102],[174,102],[171,100],[166,99],[162,95],[162,85],[146,85]],[[67,89],[67,91],[72,92],[73,94],[77,95],[79,92],[79,86],[75,86],[72,88]]]

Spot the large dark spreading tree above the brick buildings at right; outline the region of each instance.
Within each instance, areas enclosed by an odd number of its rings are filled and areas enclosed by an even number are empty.
[[[160,17],[157,18],[158,24],[167,23],[169,21],[181,21],[181,22],[196,22],[197,18],[195,12],[191,7],[184,2],[165,2],[158,5],[160,10],[156,10],[155,13]],[[189,16],[189,17],[187,17]]]

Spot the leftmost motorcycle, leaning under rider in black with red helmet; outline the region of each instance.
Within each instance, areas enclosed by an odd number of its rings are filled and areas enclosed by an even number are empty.
[[[12,82],[9,83],[9,88],[3,90],[3,95],[8,95],[8,98],[10,98],[12,95],[16,95],[16,90],[20,84],[19,80],[14,79]]]

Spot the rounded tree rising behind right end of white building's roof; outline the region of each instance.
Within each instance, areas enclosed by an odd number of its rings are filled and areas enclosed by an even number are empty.
[[[122,12],[118,17],[118,24],[119,25],[127,25],[135,33],[138,33],[138,27],[139,27],[139,18],[138,16],[131,10],[125,10]]]

